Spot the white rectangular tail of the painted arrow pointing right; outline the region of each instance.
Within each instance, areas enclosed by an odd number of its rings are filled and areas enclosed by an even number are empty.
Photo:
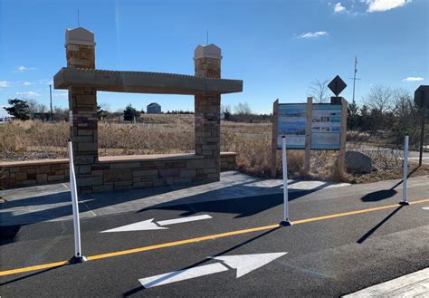
[[[219,272],[224,271],[228,271],[228,268],[226,268],[223,264],[205,264],[203,266],[198,266],[185,270],[173,271],[168,274],[159,274],[155,276],[141,278],[138,280],[138,282],[140,282],[140,284],[142,284],[145,288],[148,289],[157,285],[176,283],[180,281],[185,281],[186,279],[192,279],[208,274],[217,274]]]

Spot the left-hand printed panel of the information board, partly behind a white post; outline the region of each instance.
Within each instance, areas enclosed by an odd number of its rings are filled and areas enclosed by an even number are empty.
[[[279,104],[277,148],[281,149],[281,137],[286,136],[287,149],[305,149],[305,125],[307,104]]]

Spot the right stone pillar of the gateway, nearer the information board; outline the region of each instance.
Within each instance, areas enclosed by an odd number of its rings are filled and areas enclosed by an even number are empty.
[[[195,76],[221,78],[221,49],[215,44],[195,48]],[[220,111],[221,95],[200,93],[195,95],[195,154],[212,159],[214,180],[220,178]]]

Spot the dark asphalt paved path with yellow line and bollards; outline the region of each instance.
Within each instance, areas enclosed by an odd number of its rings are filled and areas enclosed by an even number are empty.
[[[391,184],[294,193],[290,204],[294,226],[277,224],[281,194],[83,218],[82,249],[90,259],[84,264],[52,267],[52,262],[73,254],[70,220],[2,228],[4,234],[16,234],[2,240],[0,274],[6,275],[0,277],[0,293],[2,297],[353,293],[429,266],[429,210],[423,208],[429,207],[427,185],[410,187],[408,197],[415,204],[399,207],[400,186]],[[201,215],[213,218],[168,229],[100,233],[151,218],[159,223]],[[235,264],[242,273],[250,270],[238,278],[232,262],[207,258],[286,252],[254,270],[250,268],[254,260]],[[43,270],[29,268],[38,264],[48,265]],[[150,288],[138,281],[181,269],[195,273],[201,266],[218,272]],[[177,275],[162,281],[168,283]]]

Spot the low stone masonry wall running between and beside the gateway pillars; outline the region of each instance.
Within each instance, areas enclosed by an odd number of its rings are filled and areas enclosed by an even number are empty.
[[[235,169],[234,152],[221,153],[221,170]],[[171,157],[159,159],[134,159],[130,157],[101,158],[94,165],[92,176],[81,180],[82,191],[100,192],[128,187],[158,187],[171,184],[200,182],[213,175],[204,168],[204,159],[194,157]],[[117,160],[115,160],[117,159]],[[79,167],[79,166],[78,166]],[[76,168],[78,168],[76,167]],[[51,183],[69,182],[69,160],[31,160],[0,163],[0,189],[28,187]],[[92,186],[89,183],[95,183]]]

